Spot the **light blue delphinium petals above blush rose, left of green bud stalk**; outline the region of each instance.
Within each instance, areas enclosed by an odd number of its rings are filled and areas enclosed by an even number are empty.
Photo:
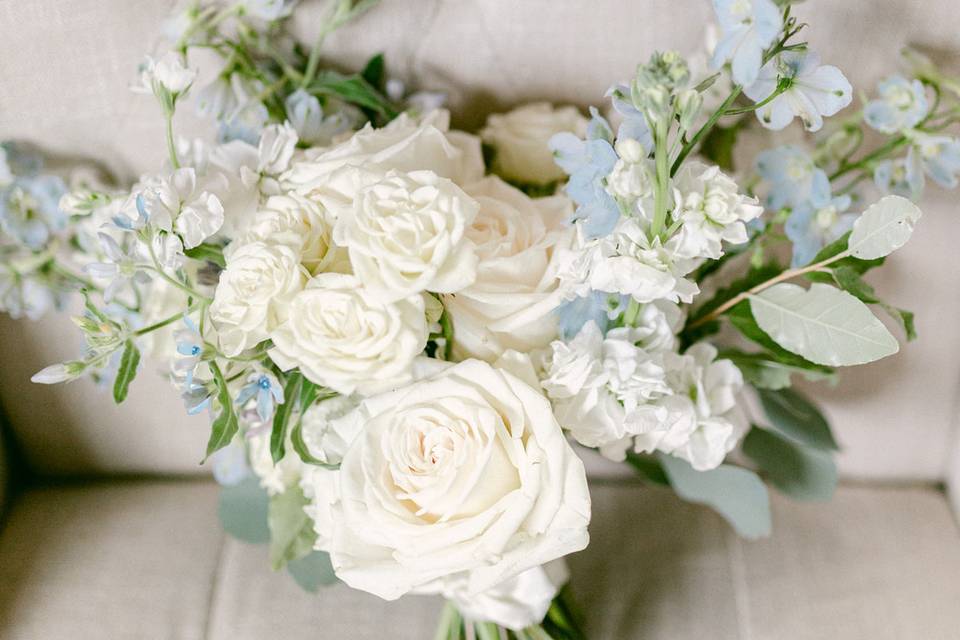
[[[610,131],[610,125],[594,113],[589,132],[606,136]],[[620,218],[620,208],[603,185],[618,159],[611,141],[606,137],[581,140],[564,132],[550,139],[550,149],[556,163],[570,175],[567,195],[577,204],[573,220],[585,221],[583,230],[589,238],[610,233]]]

